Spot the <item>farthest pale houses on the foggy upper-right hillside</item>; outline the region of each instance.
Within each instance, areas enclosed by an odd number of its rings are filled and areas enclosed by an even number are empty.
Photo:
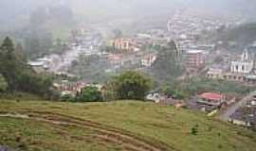
[[[241,24],[238,18],[226,20],[216,18],[202,18],[186,10],[177,10],[170,17],[167,27],[172,37],[190,39],[200,35],[203,31],[214,31],[222,27],[232,27]]]

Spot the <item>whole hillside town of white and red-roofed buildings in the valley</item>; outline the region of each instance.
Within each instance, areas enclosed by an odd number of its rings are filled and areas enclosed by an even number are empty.
[[[97,56],[103,68],[102,75],[118,74],[123,70],[145,72],[147,69],[151,69],[155,63],[159,51],[157,48],[165,47],[170,41],[174,41],[177,46],[176,57],[186,68],[182,79],[203,76],[208,79],[233,81],[254,86],[256,85],[255,42],[244,47],[244,50],[240,51],[242,54],[235,54],[227,51],[226,47],[222,47],[223,42],[198,40],[198,37],[204,32],[219,30],[223,27],[231,28],[240,24],[241,21],[222,22],[221,20],[184,16],[177,11],[174,16],[170,17],[165,28],[140,31],[133,36],[119,35],[119,37],[105,39],[97,29],[81,26],[72,31],[63,54],[47,55],[30,60],[28,64],[38,73],[46,72],[58,76],[54,86],[62,92],[62,95],[68,93],[75,95],[88,85],[97,86],[101,91],[104,87],[103,83],[92,84],[93,81],[86,78],[73,80],[75,77],[80,77],[72,72],[72,65],[79,57]],[[221,59],[221,61],[214,61],[214,59]],[[210,113],[216,109],[229,109],[229,106],[236,104],[240,97],[221,92],[205,92],[192,95],[190,101],[177,101],[156,92],[148,94],[146,98],[158,104],[182,105],[182,107],[186,106],[189,109]],[[251,106],[253,110],[253,105]],[[248,107],[241,106],[235,110],[236,112],[231,115],[229,120],[236,123],[234,119],[237,116],[238,119],[245,117],[245,126],[254,126],[256,115],[249,114],[248,124],[247,115],[242,115],[246,114],[242,111],[244,108]]]

